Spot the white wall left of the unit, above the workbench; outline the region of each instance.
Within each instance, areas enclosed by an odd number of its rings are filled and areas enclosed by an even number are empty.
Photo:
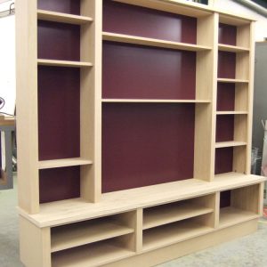
[[[11,1],[0,4],[0,12],[9,9]],[[0,96],[5,100],[0,111],[13,114],[16,98],[15,16],[0,18]]]

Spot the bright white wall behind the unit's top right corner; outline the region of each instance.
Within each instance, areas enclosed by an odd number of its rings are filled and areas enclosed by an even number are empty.
[[[263,41],[267,37],[267,18],[250,10],[248,7],[232,0],[214,0],[214,6],[225,11],[236,12],[240,15],[247,15],[255,18],[255,41]]]

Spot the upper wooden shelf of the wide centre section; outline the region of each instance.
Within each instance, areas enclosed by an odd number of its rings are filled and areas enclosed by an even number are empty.
[[[165,40],[159,40],[154,38],[146,38],[141,36],[128,36],[121,35],[116,33],[103,32],[102,39],[104,41],[112,41],[126,44],[141,44],[147,46],[156,46],[176,50],[185,50],[185,51],[209,51],[211,47],[198,45],[198,44],[185,44],[178,42],[171,42]]]

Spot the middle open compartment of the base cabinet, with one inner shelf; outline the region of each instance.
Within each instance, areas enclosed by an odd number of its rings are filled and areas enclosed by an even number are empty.
[[[143,251],[172,245],[212,231],[215,194],[143,209]]]

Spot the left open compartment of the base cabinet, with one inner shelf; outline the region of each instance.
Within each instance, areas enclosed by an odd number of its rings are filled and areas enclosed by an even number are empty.
[[[52,266],[99,266],[134,255],[134,214],[51,228]]]

